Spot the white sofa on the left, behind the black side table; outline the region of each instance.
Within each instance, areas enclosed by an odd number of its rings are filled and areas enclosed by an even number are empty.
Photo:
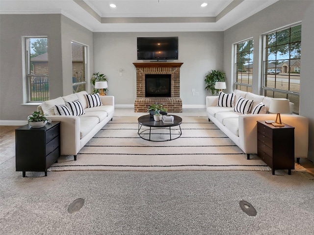
[[[47,114],[52,121],[61,122],[61,155],[73,155],[77,160],[78,151],[109,121],[114,115],[114,96],[100,96],[102,105],[87,108],[87,92],[78,92],[43,102],[37,110]],[[79,100],[85,114],[80,116],[60,116],[55,113],[55,105]]]

